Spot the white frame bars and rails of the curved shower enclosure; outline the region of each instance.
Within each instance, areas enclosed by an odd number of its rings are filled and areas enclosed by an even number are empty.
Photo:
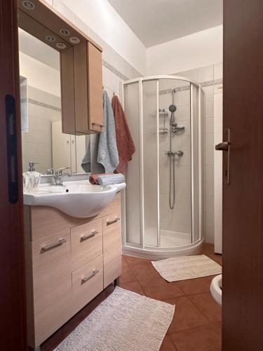
[[[190,84],[190,122],[193,120],[194,111],[191,107],[191,93],[192,93],[192,86],[196,86],[198,89],[198,205],[199,205],[199,212],[198,212],[198,219],[199,219],[199,233],[198,239],[191,244],[187,244],[184,246],[172,246],[172,247],[160,247],[160,197],[159,197],[159,138],[157,138],[157,162],[156,162],[156,172],[157,172],[157,246],[147,246],[145,245],[145,234],[144,234],[144,154],[143,154],[143,82],[144,81],[156,81],[156,128],[157,128],[157,135],[159,137],[159,80],[160,79],[173,79],[173,80],[180,80],[186,81]],[[120,91],[121,91],[121,101],[123,104],[123,110],[125,111],[125,99],[124,99],[124,86],[128,84],[138,84],[138,94],[139,94],[139,121],[140,121],[140,244],[133,244],[127,241],[126,235],[126,191],[122,192],[121,196],[121,203],[122,203],[122,233],[123,233],[123,247],[130,248],[131,251],[133,249],[140,255],[140,253],[144,253],[145,251],[151,251],[155,253],[161,253],[160,251],[182,251],[184,252],[187,249],[194,249],[198,244],[204,239],[204,201],[203,201],[203,138],[204,138],[204,131],[203,131],[203,121],[202,121],[202,107],[201,107],[201,85],[198,84],[196,81],[187,79],[185,77],[180,76],[168,76],[168,75],[158,75],[158,76],[149,76],[149,77],[140,77],[135,79],[130,79],[127,81],[123,81],[120,84]],[[191,131],[192,135],[192,131]],[[191,136],[192,138],[192,136]],[[191,143],[192,148],[192,143]],[[192,150],[191,150],[191,169],[192,169]],[[192,178],[192,171],[191,171],[191,178]],[[193,197],[192,197],[192,179],[191,179],[191,237],[194,237],[194,211],[193,211]]]

